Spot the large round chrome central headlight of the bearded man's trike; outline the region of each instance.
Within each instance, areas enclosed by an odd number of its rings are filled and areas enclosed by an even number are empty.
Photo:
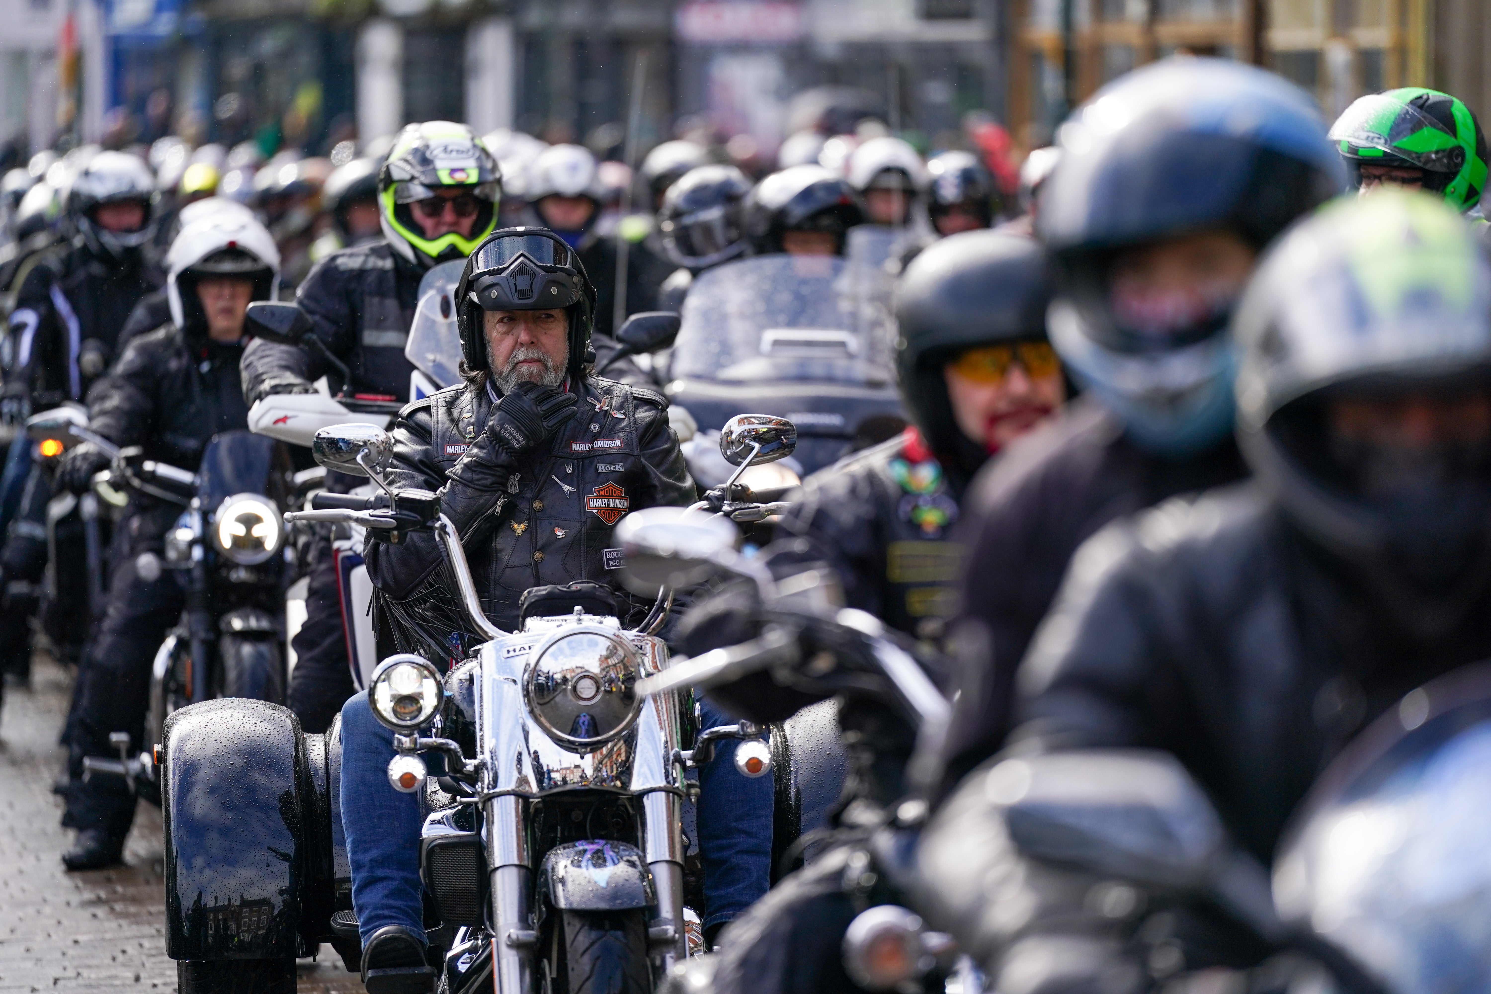
[[[593,753],[641,714],[638,669],[637,650],[608,629],[559,629],[528,663],[523,700],[555,742]]]

